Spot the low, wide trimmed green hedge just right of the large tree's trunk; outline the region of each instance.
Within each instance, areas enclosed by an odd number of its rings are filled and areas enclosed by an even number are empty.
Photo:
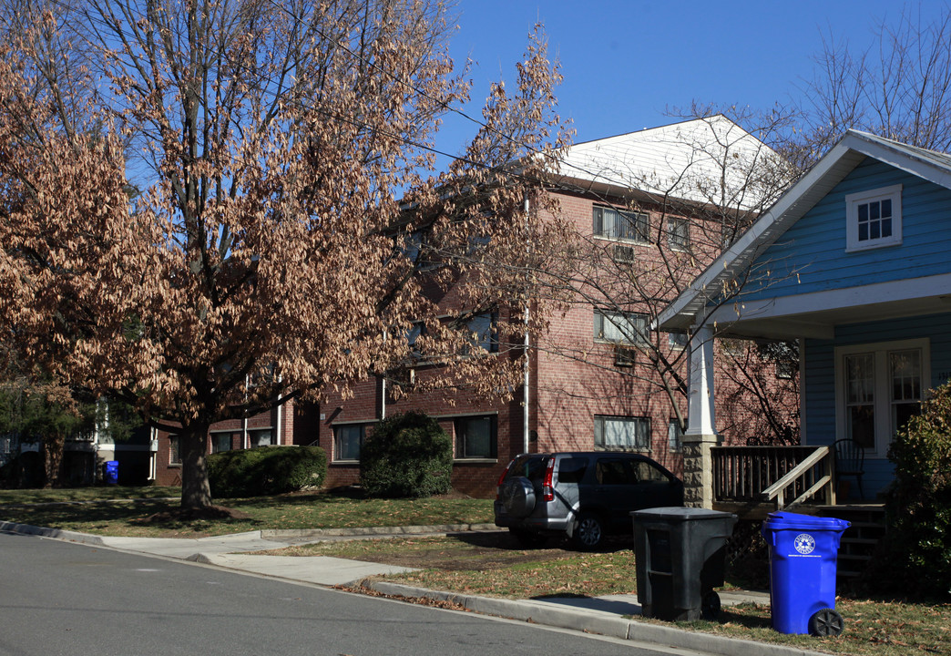
[[[323,485],[327,455],[320,447],[262,447],[212,453],[212,496],[260,496]]]

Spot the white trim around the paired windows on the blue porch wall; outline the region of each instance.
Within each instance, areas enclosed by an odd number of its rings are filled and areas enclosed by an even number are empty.
[[[928,338],[852,344],[835,348],[835,434],[847,436],[845,427],[844,357],[860,353],[875,354],[875,448],[866,449],[865,456],[886,458],[892,442],[891,402],[888,392],[888,353],[908,349],[922,350],[922,396],[931,389],[931,341]],[[923,400],[923,399],[922,399]]]

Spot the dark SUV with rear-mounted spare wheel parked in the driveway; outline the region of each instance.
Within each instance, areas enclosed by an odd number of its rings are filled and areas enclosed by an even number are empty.
[[[608,533],[632,534],[631,511],[684,505],[684,484],[646,455],[524,453],[498,479],[495,526],[537,546],[567,534],[596,549]]]

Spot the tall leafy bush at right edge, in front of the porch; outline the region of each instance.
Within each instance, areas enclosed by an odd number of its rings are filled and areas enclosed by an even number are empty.
[[[929,393],[888,450],[888,534],[873,585],[951,597],[951,383]]]

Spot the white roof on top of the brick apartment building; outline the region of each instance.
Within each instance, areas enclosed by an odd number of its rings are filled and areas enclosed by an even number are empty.
[[[749,209],[761,200],[750,176],[775,151],[717,114],[569,146],[561,182],[591,183],[693,203]]]

